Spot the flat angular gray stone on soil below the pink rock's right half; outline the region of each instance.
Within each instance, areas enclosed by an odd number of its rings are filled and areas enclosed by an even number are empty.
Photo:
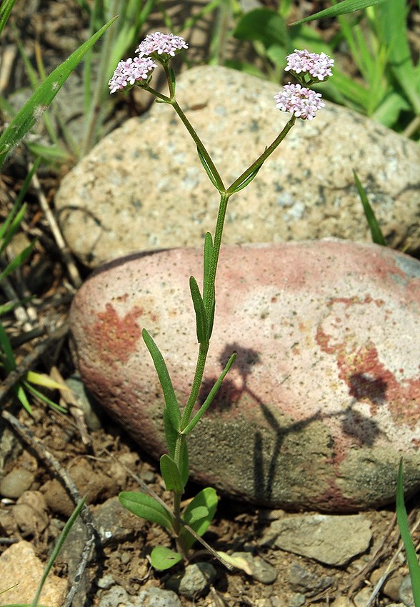
[[[369,548],[370,526],[359,514],[286,516],[271,523],[261,543],[339,567]]]

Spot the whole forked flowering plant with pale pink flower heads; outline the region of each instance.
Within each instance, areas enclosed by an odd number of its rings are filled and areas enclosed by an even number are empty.
[[[314,82],[328,79],[332,74],[331,67],[334,65],[334,60],[324,53],[314,54],[306,50],[296,50],[287,57],[286,71],[290,71],[298,80],[298,84],[291,84],[290,82],[286,84],[284,89],[275,96],[275,100],[277,107],[281,111],[289,112],[291,118],[276,139],[269,146],[266,146],[261,156],[235,179],[230,186],[226,187],[209,152],[176,101],[176,79],[170,62],[176,54],[187,48],[188,45],[180,36],[161,34],[159,32],[149,34],[136,49],[138,56],[134,59],[130,58],[126,61],[120,61],[114,71],[114,75],[109,81],[111,93],[129,90],[132,86],[141,86],[142,89],[153,94],[156,97],[156,101],[170,104],[174,108],[176,114],[178,114],[194,140],[201,164],[204,166],[211,183],[220,196],[214,236],[207,232],[204,239],[202,289],[200,290],[194,276],[191,276],[189,280],[191,299],[196,316],[196,338],[199,343],[199,352],[191,392],[183,406],[180,405],[176,398],[169,371],[166,368],[166,363],[158,346],[145,328],[142,331],[144,342],[154,361],[154,366],[164,393],[163,422],[168,453],[161,456],[160,466],[166,490],[172,491],[174,503],[173,507],[169,508],[169,506],[166,506],[165,503],[162,503],[154,496],[132,491],[123,491],[120,493],[119,499],[131,512],[149,521],[161,524],[175,537],[176,552],[169,550],[169,548],[158,546],[151,553],[152,565],[161,570],[178,563],[181,561],[181,558],[187,558],[189,549],[196,539],[199,539],[209,527],[216,511],[217,496],[213,488],[208,487],[200,491],[186,507],[182,516],[181,496],[184,493],[184,488],[189,478],[186,436],[199,423],[201,417],[211,406],[221,382],[224,380],[236,357],[236,353],[231,354],[221,376],[214,383],[206,400],[199,410],[194,413],[194,405],[199,396],[213,330],[216,303],[216,270],[229,199],[255,178],[264,161],[274,152],[294,126],[296,119],[314,119],[316,112],[324,106],[324,103],[321,101],[321,94],[316,93],[308,87]],[[165,71],[169,89],[168,95],[164,95],[150,86],[151,76],[157,64],[161,64]],[[227,555],[223,555],[223,557],[225,561],[229,560]]]

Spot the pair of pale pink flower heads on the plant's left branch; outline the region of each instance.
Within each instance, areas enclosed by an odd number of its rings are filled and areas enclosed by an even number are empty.
[[[159,57],[161,57],[161,61],[167,60],[182,49],[188,49],[188,44],[181,36],[161,34],[159,31],[149,34],[136,49],[136,53],[139,53],[138,57],[134,57],[134,59],[129,57],[126,61],[120,61],[116,66],[108,83],[111,93],[121,91],[127,84],[146,82],[157,66],[154,59],[159,61]]]

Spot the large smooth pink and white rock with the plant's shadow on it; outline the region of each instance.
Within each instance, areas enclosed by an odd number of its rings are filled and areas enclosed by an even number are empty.
[[[188,279],[201,251],[121,259],[71,309],[86,385],[149,453],[164,451],[163,401],[146,327],[186,401],[198,351]],[[376,245],[226,247],[201,398],[236,351],[191,433],[192,476],[286,508],[356,511],[420,487],[420,263]]]

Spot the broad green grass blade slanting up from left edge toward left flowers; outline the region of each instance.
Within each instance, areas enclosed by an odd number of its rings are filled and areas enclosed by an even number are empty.
[[[104,34],[109,26],[115,21],[111,19],[101,27],[91,38],[74,51],[69,59],[66,59],[59,67],[48,76],[39,89],[31,96],[29,101],[18,111],[9,126],[0,137],[0,166],[3,164],[9,151],[24,138],[26,133],[34,126],[35,121],[41,117],[45,109],[51,104],[58,91],[63,86],[71,72],[84,58],[86,53],[94,46],[95,42]]]

